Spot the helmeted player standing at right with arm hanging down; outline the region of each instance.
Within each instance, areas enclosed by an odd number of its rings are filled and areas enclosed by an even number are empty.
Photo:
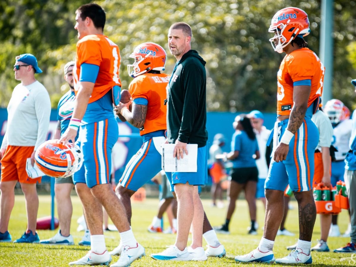
[[[265,228],[258,247],[236,256],[240,262],[312,263],[310,246],[316,218],[312,194],[314,151],[319,133],[312,115],[319,106],[325,68],[303,37],[310,32],[308,15],[296,7],[279,10],[269,32],[274,50],[285,52],[277,73],[277,121],[273,157],[265,183]],[[299,208],[299,240],[288,256],[276,259],[273,245],[283,217],[283,193],[289,183]]]

